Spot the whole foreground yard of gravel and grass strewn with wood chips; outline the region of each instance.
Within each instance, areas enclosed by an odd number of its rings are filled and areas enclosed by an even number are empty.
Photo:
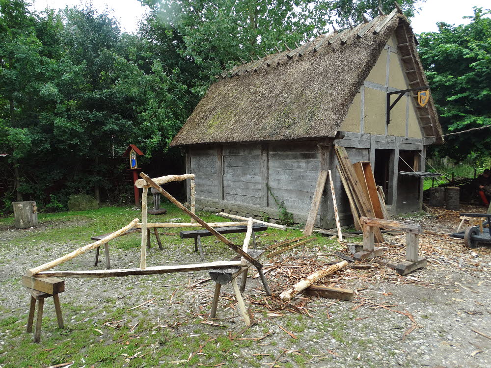
[[[459,222],[455,213],[440,210],[414,219],[425,229],[445,233],[454,231]],[[20,237],[23,245],[17,241]],[[207,278],[206,272],[67,279],[60,299],[68,329],[56,330],[53,307],[47,302],[39,345],[24,333],[28,299],[20,275],[32,266],[32,260],[46,262],[75,245],[41,242],[28,246],[25,233],[11,228],[0,230],[0,239],[2,368],[46,367],[71,360],[73,367],[179,367],[187,366],[187,358],[196,351],[190,366],[491,367],[491,338],[477,333],[491,336],[491,251],[465,249],[459,239],[422,236],[421,253],[429,265],[407,277],[370,263],[370,268],[350,267],[323,280],[325,285],[354,289],[354,302],[299,296],[290,305],[281,304],[277,297],[265,298],[259,279],[250,271],[246,304],[259,322],[237,337],[248,340],[231,339],[244,326],[230,285],[222,288],[220,319],[213,321],[208,314],[214,285],[185,287]],[[163,240],[164,252],[152,247],[147,265],[198,262],[189,244],[183,245],[178,237],[163,236]],[[259,241],[269,244],[268,236]],[[404,241],[404,236],[387,237],[386,258],[403,258],[399,244]],[[137,245],[127,249],[117,244],[111,246],[112,267],[135,266]],[[333,249],[315,242],[309,245],[265,261],[274,293],[295,281],[309,260],[339,261]],[[215,241],[207,238],[204,246],[207,260],[222,258],[223,248]],[[101,259],[104,267],[102,251]],[[91,252],[60,269],[91,269],[92,263]],[[37,363],[32,363],[32,354],[37,354]]]

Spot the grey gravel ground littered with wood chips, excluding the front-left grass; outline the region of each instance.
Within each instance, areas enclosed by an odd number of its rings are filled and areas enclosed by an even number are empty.
[[[441,217],[440,212],[435,213],[413,219],[425,228],[440,232],[455,230],[459,221],[456,212],[450,213],[453,215],[451,221],[449,213]],[[0,228],[0,239],[11,242],[26,231],[43,231],[44,226],[79,224],[79,221],[48,223],[24,231],[4,227]],[[397,246],[404,243],[404,236],[386,239],[390,254],[397,254],[394,257],[404,254],[404,249]],[[164,252],[152,247],[148,251],[147,265],[199,262],[188,243],[184,246],[178,237],[163,236],[163,240]],[[261,237],[260,242],[267,245],[267,240],[267,237]],[[253,306],[250,299],[259,300],[264,293],[259,279],[249,277],[246,304],[254,309],[259,322],[243,338],[262,338],[271,334],[246,346],[242,355],[237,354],[235,363],[223,367],[272,367],[274,362],[274,367],[491,367],[491,251],[485,247],[465,249],[459,239],[430,234],[421,237],[421,244],[429,265],[409,277],[397,276],[393,270],[378,264],[372,264],[369,269],[348,268],[338,272],[334,284],[354,289],[355,300],[312,298],[308,304],[312,318],[288,311],[261,312],[264,308]],[[223,248],[210,238],[206,239],[204,247],[206,260],[220,259]],[[54,254],[66,254],[74,248],[74,244],[53,243],[37,243],[35,247],[26,244],[20,248],[3,246],[0,300],[4,311],[23,318],[25,323],[28,294],[20,284],[20,275],[33,265],[51,260]],[[315,257],[321,251],[323,249],[315,247],[303,248],[297,250],[296,256]],[[279,259],[282,256],[286,257],[282,254]],[[138,248],[111,246],[112,268],[135,267],[138,258]],[[101,260],[99,267],[104,267],[103,250]],[[338,259],[330,257],[330,261]],[[93,253],[90,252],[59,268],[91,269],[92,263]],[[249,272],[249,276],[253,274]],[[272,284],[278,280],[274,272],[266,275]],[[207,272],[202,271],[115,279],[67,279],[66,291],[60,296],[64,320],[72,334],[76,333],[78,325],[94,325],[105,332],[109,327],[102,324],[109,310],[129,309],[155,297],[128,312],[127,320],[122,323],[145,323],[148,326],[145,332],[149,335],[155,329],[163,328],[159,326],[171,326],[166,328],[177,335],[192,335],[197,324],[210,337],[236,334],[244,325],[238,312],[230,308],[233,300],[230,285],[222,288],[218,308],[220,319],[214,321],[228,327],[199,323],[207,319],[213,285],[204,283],[192,288],[183,285],[206,277]],[[274,292],[280,291],[274,289]],[[47,305],[46,315],[53,320],[52,306],[49,302]],[[195,323],[185,323],[190,321]],[[42,339],[51,336],[54,326],[54,323],[43,326]],[[32,337],[27,334],[14,336],[12,331],[0,328],[0,356],[6,356],[8,362],[9,349],[26,339]],[[106,335],[101,337],[102,340],[114,343]],[[163,356],[159,364],[173,367],[177,363],[170,362],[175,359]]]

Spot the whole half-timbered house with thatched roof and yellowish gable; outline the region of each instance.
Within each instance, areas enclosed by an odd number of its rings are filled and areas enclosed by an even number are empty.
[[[321,169],[331,169],[341,221],[352,223],[333,146],[370,161],[391,213],[421,209],[425,151],[441,143],[431,96],[390,110],[387,93],[427,84],[408,19],[399,9],[322,34],[218,76],[171,145],[196,174],[196,204],[278,218],[274,196],[305,223]],[[399,96],[390,95],[390,104]],[[269,188],[269,189],[268,189]],[[316,226],[334,227],[328,185]]]

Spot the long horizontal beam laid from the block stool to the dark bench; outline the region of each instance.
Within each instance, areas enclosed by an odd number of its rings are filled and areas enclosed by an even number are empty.
[[[105,269],[105,270],[88,270],[88,271],[44,271],[39,272],[38,277],[56,276],[56,277],[87,277],[87,278],[104,278],[104,277],[124,277],[132,275],[159,275],[163,273],[191,272],[202,271],[214,268],[241,267],[240,261],[218,261],[197,264],[178,264],[175,266],[152,266],[145,269],[126,268],[126,269]]]

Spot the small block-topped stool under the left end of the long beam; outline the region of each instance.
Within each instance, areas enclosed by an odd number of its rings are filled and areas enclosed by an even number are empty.
[[[46,298],[53,297],[56,311],[56,319],[58,320],[58,327],[64,328],[58,294],[65,291],[65,282],[55,277],[36,278],[22,276],[22,284],[27,287],[27,290],[29,290],[29,293],[31,295],[29,315],[27,317],[27,333],[29,334],[32,333],[32,325],[34,323],[34,312],[37,300],[37,318],[36,330],[34,333],[34,342],[39,342],[41,340],[41,324],[43,322],[44,299]]]

